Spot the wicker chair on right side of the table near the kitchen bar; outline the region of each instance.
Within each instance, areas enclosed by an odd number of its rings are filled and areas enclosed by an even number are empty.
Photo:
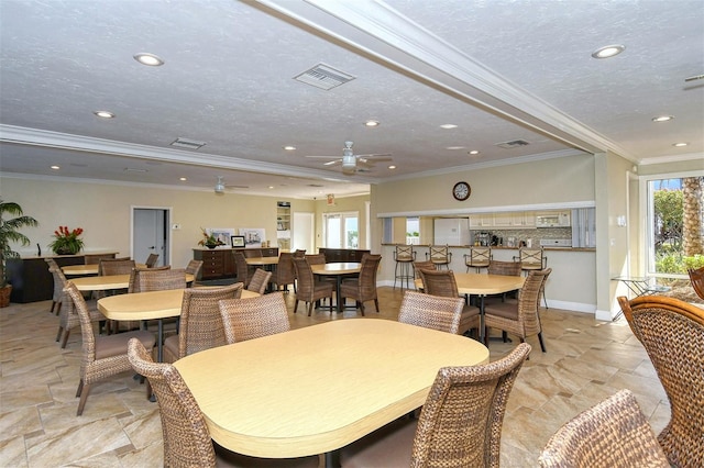
[[[484,304],[484,344],[488,346],[490,328],[498,328],[517,335],[521,343],[528,336],[538,335],[540,349],[546,353],[542,327],[538,315],[538,299],[543,279],[551,269],[531,270],[518,292],[517,301],[490,302]]]

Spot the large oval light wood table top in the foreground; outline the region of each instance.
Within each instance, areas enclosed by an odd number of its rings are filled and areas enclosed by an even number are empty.
[[[333,452],[421,406],[438,370],[488,361],[461,335],[337,320],[220,346],[175,366],[218,444],[251,456]]]

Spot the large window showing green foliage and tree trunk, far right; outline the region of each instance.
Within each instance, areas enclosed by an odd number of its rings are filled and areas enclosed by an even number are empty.
[[[647,271],[682,278],[704,266],[704,177],[649,179],[647,193]]]

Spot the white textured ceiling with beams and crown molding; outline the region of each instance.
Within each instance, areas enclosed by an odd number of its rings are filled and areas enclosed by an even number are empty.
[[[248,187],[231,192],[314,198],[513,158],[704,152],[704,79],[684,81],[704,74],[701,0],[3,0],[0,26],[4,175],[194,190],[223,176]],[[608,44],[626,51],[591,57]],[[355,79],[293,79],[319,63]],[[495,146],[514,140],[529,145]],[[397,168],[350,177],[306,157],[332,160],[345,141]]]

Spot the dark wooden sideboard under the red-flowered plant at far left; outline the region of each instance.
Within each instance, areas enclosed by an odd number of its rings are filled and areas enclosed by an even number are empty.
[[[46,301],[54,296],[54,277],[48,272],[45,258],[53,258],[59,267],[92,263],[94,257],[114,258],[117,252],[80,255],[47,255],[8,259],[8,279],[12,283],[11,302]]]

